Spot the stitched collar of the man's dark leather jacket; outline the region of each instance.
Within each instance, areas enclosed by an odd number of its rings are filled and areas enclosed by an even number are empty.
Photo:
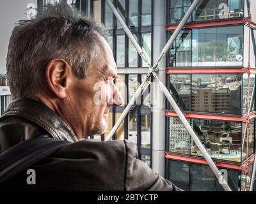
[[[0,120],[10,116],[22,117],[34,122],[57,140],[78,141],[74,132],[61,117],[42,102],[28,98],[16,99],[10,103]]]

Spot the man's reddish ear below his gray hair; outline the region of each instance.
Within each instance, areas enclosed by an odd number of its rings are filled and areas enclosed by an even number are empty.
[[[67,81],[70,74],[71,68],[63,59],[52,59],[47,64],[45,71],[47,84],[58,98],[67,96]]]

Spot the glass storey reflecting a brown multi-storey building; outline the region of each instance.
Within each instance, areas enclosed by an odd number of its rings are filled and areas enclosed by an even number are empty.
[[[251,76],[253,86],[255,75]],[[241,115],[242,87],[244,106],[247,98],[247,85],[242,85],[246,78],[242,77],[239,73],[170,75],[169,89],[181,110]]]

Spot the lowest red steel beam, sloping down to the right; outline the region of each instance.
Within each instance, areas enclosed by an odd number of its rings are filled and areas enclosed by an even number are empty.
[[[164,152],[164,157],[168,159],[175,159],[179,161],[186,161],[190,163],[198,163],[198,164],[206,164],[207,162],[205,161],[204,158],[196,158],[196,157],[191,157],[191,156],[186,156],[186,155],[178,155],[178,154],[172,154],[170,152]],[[231,168],[235,170],[242,170],[243,165],[241,164],[232,164],[232,163],[225,163],[225,162],[220,162],[220,161],[214,161],[216,166],[222,167],[222,168]]]

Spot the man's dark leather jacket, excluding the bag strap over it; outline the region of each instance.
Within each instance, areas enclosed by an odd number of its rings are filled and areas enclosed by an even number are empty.
[[[47,134],[72,142],[32,166],[36,184],[28,185],[26,171],[0,186],[2,190],[50,191],[177,191],[171,182],[137,159],[127,140],[78,141],[61,118],[43,103],[17,99],[0,118],[0,152],[29,138]]]

